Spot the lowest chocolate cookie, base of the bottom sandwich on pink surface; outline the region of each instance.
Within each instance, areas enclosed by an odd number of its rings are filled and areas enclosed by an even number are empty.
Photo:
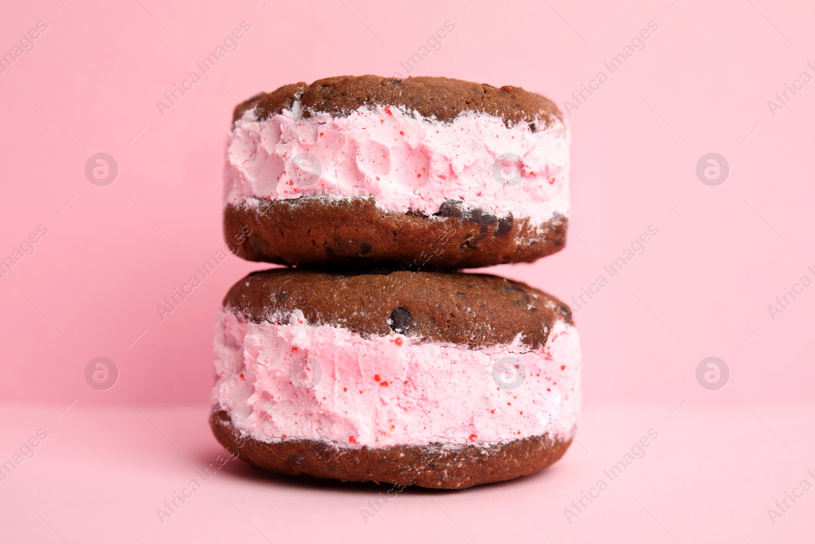
[[[316,440],[267,444],[243,438],[223,410],[214,410],[209,422],[218,442],[236,449],[240,458],[262,470],[434,489],[464,489],[531,475],[562,458],[571,444],[571,439],[531,436],[489,446],[450,448],[428,444],[346,449]]]

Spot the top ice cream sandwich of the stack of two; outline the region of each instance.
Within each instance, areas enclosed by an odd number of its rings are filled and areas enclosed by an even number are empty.
[[[568,130],[540,95],[328,77],[236,108],[224,230],[271,263],[528,262],[565,244],[568,170]]]

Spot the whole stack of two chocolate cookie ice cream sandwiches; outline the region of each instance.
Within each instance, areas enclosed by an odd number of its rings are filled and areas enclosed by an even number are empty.
[[[562,249],[569,133],[513,86],[328,77],[240,104],[224,227],[287,265],[238,281],[211,424],[268,471],[458,489],[566,452],[580,405],[566,304],[460,268]]]

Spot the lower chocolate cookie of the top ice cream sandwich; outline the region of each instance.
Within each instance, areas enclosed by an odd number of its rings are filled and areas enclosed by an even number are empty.
[[[562,250],[568,221],[556,216],[532,225],[528,219],[465,212],[460,202],[434,217],[381,210],[371,199],[301,197],[227,206],[227,241],[241,240],[237,255],[287,265],[478,268],[532,262]],[[443,219],[443,220],[440,220]],[[251,232],[241,236],[242,232]],[[364,235],[360,233],[364,232]]]

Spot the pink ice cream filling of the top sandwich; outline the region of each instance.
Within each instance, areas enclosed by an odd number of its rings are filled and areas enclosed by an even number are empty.
[[[486,113],[438,122],[396,106],[302,117],[296,101],[262,122],[249,110],[228,145],[225,203],[370,197],[430,217],[458,200],[533,225],[568,218],[569,132],[557,118],[532,129]]]

